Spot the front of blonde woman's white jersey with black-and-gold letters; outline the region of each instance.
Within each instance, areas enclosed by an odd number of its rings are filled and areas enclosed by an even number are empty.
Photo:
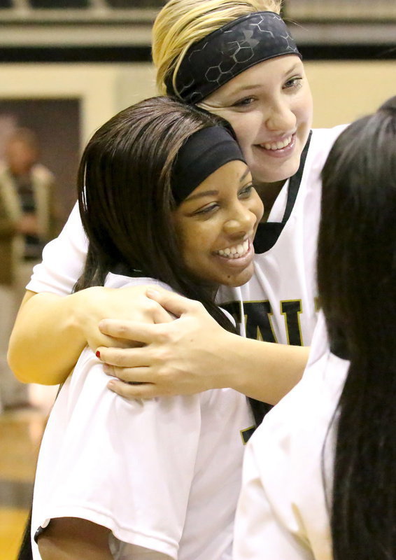
[[[218,302],[234,316],[242,335],[266,342],[311,344],[318,314],[320,174],[344,128],[312,131],[299,171],[285,183],[269,221],[259,225],[253,277],[239,288],[220,288]]]

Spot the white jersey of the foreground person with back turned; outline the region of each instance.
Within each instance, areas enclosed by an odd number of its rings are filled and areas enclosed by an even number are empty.
[[[315,358],[302,381],[267,414],[246,446],[234,560],[332,560],[322,468],[329,495],[331,422],[349,362],[324,349],[325,340],[320,321],[312,343]]]

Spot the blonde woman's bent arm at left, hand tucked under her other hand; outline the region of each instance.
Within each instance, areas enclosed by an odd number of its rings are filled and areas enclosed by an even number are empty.
[[[56,385],[73,369],[87,344],[130,346],[99,331],[99,321],[170,321],[167,311],[145,295],[144,286],[122,290],[95,286],[71,295],[27,291],[10,337],[8,363],[20,381]]]

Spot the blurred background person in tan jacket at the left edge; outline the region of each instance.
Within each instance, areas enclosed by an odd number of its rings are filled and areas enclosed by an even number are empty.
[[[39,162],[38,138],[15,129],[0,163],[0,398],[3,408],[29,404],[27,386],[6,364],[8,337],[31,269],[47,241],[57,235],[55,178]]]

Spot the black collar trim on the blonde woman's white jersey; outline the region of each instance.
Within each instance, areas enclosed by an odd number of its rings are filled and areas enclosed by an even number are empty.
[[[255,240],[253,242],[255,253],[257,254],[266,253],[276,244],[276,241],[278,241],[278,238],[281,235],[285,224],[290,218],[290,214],[292,213],[292,209],[295,206],[295,202],[299,192],[299,186],[301,185],[302,174],[304,173],[306,155],[309,151],[311,137],[312,130],[309,132],[309,137],[304,146],[304,150],[302,151],[298,171],[295,175],[290,177],[288,186],[288,200],[286,201],[285,214],[283,214],[282,221],[265,222],[258,225]]]

